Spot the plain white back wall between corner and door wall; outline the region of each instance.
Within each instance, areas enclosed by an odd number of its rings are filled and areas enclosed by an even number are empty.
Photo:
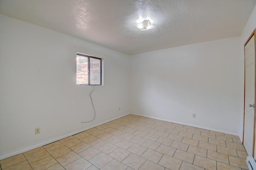
[[[238,135],[240,62],[240,37],[133,55],[131,110]]]

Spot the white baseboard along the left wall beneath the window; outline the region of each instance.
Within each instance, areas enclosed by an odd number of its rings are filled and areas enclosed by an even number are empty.
[[[124,115],[115,117],[115,118],[113,118],[113,119],[110,119],[110,120],[107,120],[107,121],[98,123],[98,124],[96,124],[96,125],[92,125],[92,126],[90,126],[90,127],[86,127],[86,128],[84,128],[84,129],[81,129],[81,130],[78,130],[78,131],[75,131],[75,132],[72,132],[72,133],[68,133],[68,134],[66,134],[66,135],[62,135],[62,136],[56,137],[56,138],[54,138],[54,139],[50,139],[50,140],[44,141],[44,142],[42,142],[42,143],[37,143],[37,144],[32,145],[32,146],[26,146],[26,147],[17,148],[17,149],[11,150],[10,152],[3,152],[3,153],[0,155],[0,160],[3,160],[3,159],[5,159],[5,158],[9,158],[9,157],[11,157],[11,156],[15,156],[15,155],[17,155],[17,154],[21,154],[21,153],[23,153],[23,152],[27,152],[27,151],[32,150],[32,149],[36,149],[36,148],[38,148],[38,147],[42,147],[42,146],[44,146],[44,145],[48,145],[48,144],[53,143],[53,142],[56,142],[56,141],[58,141],[58,140],[60,140],[60,139],[64,139],[64,138],[66,138],[66,137],[69,137],[69,136],[72,136],[72,135],[76,135],[77,133],[81,133],[81,132],[86,131],[86,130],[88,130],[88,129],[92,129],[92,128],[94,128],[94,127],[97,127],[97,126],[102,125],[102,124],[104,124],[104,123],[108,123],[108,122],[113,121],[113,120],[116,120],[116,119],[119,119],[120,117],[124,117],[124,116],[129,115],[129,114],[130,114],[130,113],[127,113],[127,114],[124,114]]]

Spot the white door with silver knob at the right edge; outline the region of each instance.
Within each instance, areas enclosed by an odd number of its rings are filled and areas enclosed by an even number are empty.
[[[255,51],[254,35],[245,46],[244,147],[252,156],[254,143]]]

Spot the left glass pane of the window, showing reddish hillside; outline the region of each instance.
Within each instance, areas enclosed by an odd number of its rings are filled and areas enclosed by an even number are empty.
[[[88,84],[88,57],[76,55],[76,85]]]

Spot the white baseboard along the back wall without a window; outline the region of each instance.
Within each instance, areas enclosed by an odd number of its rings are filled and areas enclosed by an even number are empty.
[[[137,114],[137,113],[131,113],[131,114],[142,116],[142,117],[148,117],[148,118],[152,118],[152,119],[157,119],[157,120],[162,120],[162,121],[167,121],[167,122],[171,122],[171,123],[177,123],[177,124],[181,124],[181,125],[196,127],[196,128],[200,128],[200,129],[206,129],[206,130],[209,130],[209,131],[215,131],[215,132],[220,132],[220,133],[226,133],[226,134],[229,134],[229,135],[239,136],[239,133],[234,133],[234,132],[229,132],[229,131],[222,131],[222,130],[219,130],[219,129],[213,129],[213,128],[204,127],[204,126],[192,125],[192,124],[183,123],[183,122],[179,122],[179,121],[172,121],[172,120],[168,120],[168,119],[161,119],[161,118],[158,118],[158,117],[153,117],[153,116],[148,116],[148,115],[141,115],[141,114]],[[240,137],[240,139],[241,139],[241,137]]]

